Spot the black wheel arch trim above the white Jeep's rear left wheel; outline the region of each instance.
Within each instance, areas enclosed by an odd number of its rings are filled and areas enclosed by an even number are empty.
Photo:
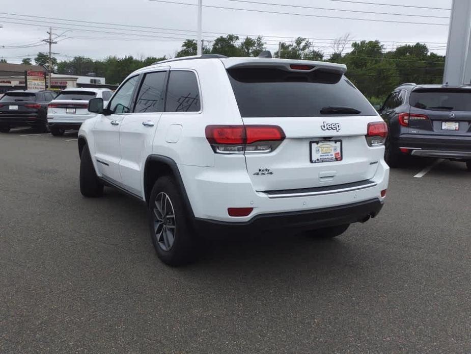
[[[146,164],[144,167],[144,197],[146,203],[149,204],[150,193],[155,181],[164,175],[171,175],[175,179],[175,182],[180,189],[181,195],[183,196],[183,203],[185,204],[187,212],[192,218],[194,218],[195,214],[191,208],[188,194],[186,193],[177,163],[167,156],[150,155],[146,159]]]

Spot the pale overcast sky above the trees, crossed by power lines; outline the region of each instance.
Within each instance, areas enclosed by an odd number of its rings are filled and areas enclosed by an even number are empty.
[[[167,1],[188,4],[198,3],[197,0]],[[413,4],[413,6],[436,8],[451,7],[451,0],[414,0],[413,2],[407,0],[352,1],[409,6]],[[274,52],[278,48],[277,43],[280,40],[288,42],[291,41],[290,37],[302,36],[311,38],[316,48],[329,55],[332,52],[329,47],[330,39],[350,33],[352,39],[378,39],[388,48],[402,42],[422,42],[427,43],[435,53],[445,53],[448,38],[448,17],[450,16],[448,10],[353,4],[338,0],[253,0],[253,2],[319,7],[327,10],[294,6],[257,5],[234,0],[203,0],[203,5],[207,6],[281,13],[205,7],[203,8],[203,31],[206,32],[204,33],[204,39],[210,41],[220,34],[227,33],[238,34],[240,37],[242,35],[261,35],[267,42],[267,48]],[[59,60],[71,59],[79,55],[93,59],[103,59],[110,55],[132,55],[135,57],[160,57],[165,55],[171,57],[180,48],[185,38],[196,38],[197,7],[190,5],[176,5],[150,0],[81,0],[65,2],[58,2],[57,0],[27,2],[17,0],[8,2],[8,6],[2,6],[0,11],[2,11],[0,13],[0,24],[3,25],[3,29],[0,30],[0,46],[38,45],[41,39],[47,37],[46,31],[49,26],[52,26],[52,32],[57,35],[67,31],[62,37],[58,38],[59,43],[54,44],[52,47],[53,52],[59,53],[56,55]],[[367,12],[378,12],[379,14]],[[405,23],[320,18],[288,13],[401,21]],[[419,17],[425,15],[436,17]],[[418,22],[426,24],[418,24]],[[445,24],[446,26],[437,26],[436,24]],[[0,47],[0,57],[7,59],[9,62],[18,63],[21,58],[27,56],[34,58],[38,52],[46,52],[47,50],[46,43],[21,48]]]

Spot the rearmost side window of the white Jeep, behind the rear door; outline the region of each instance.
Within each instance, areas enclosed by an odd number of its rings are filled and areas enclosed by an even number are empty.
[[[200,109],[196,74],[192,71],[170,71],[165,112],[198,112]]]

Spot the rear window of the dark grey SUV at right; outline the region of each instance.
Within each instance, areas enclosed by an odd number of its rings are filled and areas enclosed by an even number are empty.
[[[409,104],[433,111],[471,111],[471,90],[412,91]]]

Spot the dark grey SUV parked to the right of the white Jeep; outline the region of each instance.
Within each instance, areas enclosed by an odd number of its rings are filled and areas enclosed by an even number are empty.
[[[463,161],[471,171],[471,87],[403,84],[379,113],[389,126],[391,167],[413,155]]]

